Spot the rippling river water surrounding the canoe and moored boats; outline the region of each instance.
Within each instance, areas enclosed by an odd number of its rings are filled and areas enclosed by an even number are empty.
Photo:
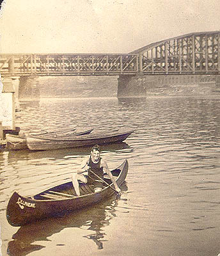
[[[121,198],[63,218],[12,227],[13,191],[35,194],[68,180],[90,148],[0,152],[2,254],[217,256],[220,253],[220,99],[40,99],[21,102],[22,131],[90,126],[135,129],[102,147],[109,168],[129,161]]]

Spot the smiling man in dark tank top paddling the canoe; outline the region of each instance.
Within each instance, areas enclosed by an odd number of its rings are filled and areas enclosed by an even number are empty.
[[[88,178],[82,174],[84,172],[88,172]],[[80,195],[78,180],[84,183],[92,184],[94,186],[94,192],[101,191],[103,187],[102,180],[104,178],[104,173],[109,175],[109,178],[114,184],[115,190],[118,193],[121,193],[121,189],[118,188],[113,175],[107,167],[106,161],[100,157],[100,147],[95,145],[91,148],[91,155],[86,157],[86,159],[84,159],[83,163],[81,164],[81,170],[78,170],[77,173],[72,175],[72,184],[77,196]]]

